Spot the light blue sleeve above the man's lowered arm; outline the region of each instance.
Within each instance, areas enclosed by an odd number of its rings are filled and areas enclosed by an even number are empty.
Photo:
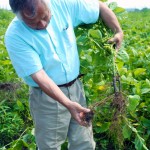
[[[19,77],[27,77],[42,69],[38,53],[18,35],[5,35],[5,45]]]

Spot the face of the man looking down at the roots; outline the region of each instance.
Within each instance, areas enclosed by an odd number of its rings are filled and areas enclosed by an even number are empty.
[[[23,21],[32,29],[42,30],[45,29],[51,19],[51,12],[49,8],[43,2],[37,3],[37,12],[33,17],[27,10],[22,12]]]

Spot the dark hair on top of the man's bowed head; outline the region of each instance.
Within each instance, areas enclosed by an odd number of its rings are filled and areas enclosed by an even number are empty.
[[[9,0],[9,5],[14,13],[28,10],[32,15],[36,12],[36,2],[38,0]]]

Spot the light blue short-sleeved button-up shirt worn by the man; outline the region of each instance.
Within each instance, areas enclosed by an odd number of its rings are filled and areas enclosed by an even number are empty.
[[[98,0],[51,0],[52,18],[44,30],[34,30],[14,18],[5,34],[5,45],[19,77],[33,87],[31,74],[44,69],[57,84],[65,84],[79,74],[79,56],[74,27],[95,23]]]

